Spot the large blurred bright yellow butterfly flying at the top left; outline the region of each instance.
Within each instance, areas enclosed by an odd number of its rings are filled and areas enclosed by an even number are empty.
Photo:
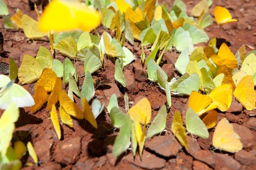
[[[78,0],[52,0],[39,18],[40,31],[90,31],[100,24],[98,12]]]

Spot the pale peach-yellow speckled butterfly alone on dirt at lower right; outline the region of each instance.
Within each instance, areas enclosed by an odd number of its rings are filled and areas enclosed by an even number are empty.
[[[216,126],[213,146],[230,153],[238,152],[243,148],[240,137],[234,132],[233,125],[226,118],[221,119]]]

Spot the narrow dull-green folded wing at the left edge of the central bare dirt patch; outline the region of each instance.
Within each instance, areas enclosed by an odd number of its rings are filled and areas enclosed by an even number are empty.
[[[88,102],[91,101],[91,99],[95,95],[95,89],[94,89],[94,83],[93,83],[93,77],[89,71],[86,71],[85,78],[82,85],[82,91],[81,91],[81,99],[86,98]]]

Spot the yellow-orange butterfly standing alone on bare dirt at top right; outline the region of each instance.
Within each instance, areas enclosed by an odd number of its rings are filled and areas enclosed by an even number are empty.
[[[216,6],[214,9],[214,16],[218,25],[223,25],[229,22],[236,22],[237,19],[232,19],[229,11],[221,6]]]

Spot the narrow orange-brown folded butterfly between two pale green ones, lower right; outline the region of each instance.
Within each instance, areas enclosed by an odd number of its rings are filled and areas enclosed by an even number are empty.
[[[186,129],[182,124],[183,121],[180,116],[180,113],[179,111],[176,111],[173,117],[172,132],[174,136],[176,136],[176,138],[178,139],[179,143],[183,147],[185,147],[186,150],[188,150],[188,138],[186,135]]]

